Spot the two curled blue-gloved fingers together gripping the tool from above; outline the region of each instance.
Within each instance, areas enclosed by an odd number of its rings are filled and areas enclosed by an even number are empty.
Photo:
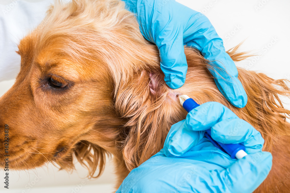
[[[186,116],[186,128],[192,131],[211,129],[213,140],[223,144],[242,143],[247,153],[261,151],[264,144],[260,132],[217,102],[204,103],[191,110]]]

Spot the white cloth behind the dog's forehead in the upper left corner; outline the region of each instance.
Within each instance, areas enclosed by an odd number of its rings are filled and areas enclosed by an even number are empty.
[[[14,79],[20,70],[20,56],[15,52],[17,44],[44,18],[53,0],[29,3],[11,0],[0,4],[0,81]]]

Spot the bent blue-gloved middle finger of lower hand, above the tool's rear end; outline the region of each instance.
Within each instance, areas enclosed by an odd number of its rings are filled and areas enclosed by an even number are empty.
[[[211,137],[224,144],[242,143],[247,153],[262,151],[264,139],[259,131],[242,119],[226,119],[211,128]]]

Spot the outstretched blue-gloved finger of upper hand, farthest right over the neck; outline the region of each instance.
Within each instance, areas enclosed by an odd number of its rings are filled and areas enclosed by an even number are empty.
[[[216,33],[209,19],[202,13],[191,16],[184,31],[184,43],[201,51],[211,62],[208,68],[215,77],[215,83],[224,97],[236,107],[247,104],[247,94],[238,80],[238,70],[226,53],[223,41]]]

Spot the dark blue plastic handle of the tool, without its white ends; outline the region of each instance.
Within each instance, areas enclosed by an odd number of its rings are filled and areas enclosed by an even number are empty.
[[[191,110],[193,110],[194,108],[196,108],[200,105],[197,104],[193,99],[189,98],[183,102],[182,106],[187,112],[190,112]],[[214,146],[216,146],[217,148],[219,148],[223,152],[228,153],[232,159],[235,159],[235,155],[238,151],[240,151],[240,150],[245,151],[246,150],[246,148],[241,144],[223,144],[223,143],[220,143],[220,142],[213,140],[213,138],[211,137],[211,130],[210,129],[206,130],[204,135],[206,136],[206,138],[209,139],[209,141]]]

